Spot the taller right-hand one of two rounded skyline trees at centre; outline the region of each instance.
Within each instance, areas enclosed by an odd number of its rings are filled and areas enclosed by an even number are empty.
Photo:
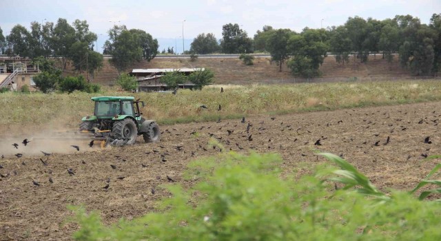
[[[220,41],[220,47],[225,54],[252,53],[253,40],[247,35],[247,32],[241,30],[237,23],[228,23],[222,27],[223,39]]]

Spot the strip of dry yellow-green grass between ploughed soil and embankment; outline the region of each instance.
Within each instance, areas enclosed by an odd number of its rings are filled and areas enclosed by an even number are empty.
[[[76,127],[81,116],[93,112],[92,96],[134,96],[145,101],[147,118],[162,124],[190,121],[216,121],[247,114],[283,114],[310,110],[392,105],[441,100],[440,81],[390,81],[373,83],[309,83],[295,85],[223,85],[201,91],[180,90],[177,95],[163,92],[127,93],[105,90],[101,94],[0,94],[0,125],[65,124]],[[208,109],[200,108],[207,105]],[[218,111],[218,105],[222,109]]]

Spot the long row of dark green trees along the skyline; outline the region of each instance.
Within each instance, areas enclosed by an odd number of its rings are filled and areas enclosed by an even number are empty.
[[[59,56],[64,67],[70,59],[79,72],[93,73],[101,67],[103,56],[94,52],[97,36],[90,32],[87,21],[77,19],[72,25],[65,19],[44,25],[33,21],[30,29],[15,25],[5,37],[0,28],[0,54],[30,58]],[[253,38],[238,23],[227,23],[222,30],[219,41],[212,33],[198,34],[186,54],[269,52],[280,71],[287,65],[294,75],[306,78],[320,76],[318,68],[328,53],[334,54],[342,65],[349,61],[365,63],[369,54],[381,54],[382,58],[392,61],[398,54],[400,64],[415,75],[440,71],[441,14],[433,14],[428,25],[411,15],[397,15],[382,21],[349,17],[343,25],[304,28],[302,32],[265,25]],[[144,30],[114,25],[108,34],[103,54],[112,55],[110,61],[119,72],[137,61],[150,61],[158,54],[158,41]],[[167,52],[174,54],[173,48]]]

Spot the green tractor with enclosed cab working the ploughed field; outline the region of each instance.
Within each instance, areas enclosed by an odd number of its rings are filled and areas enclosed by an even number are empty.
[[[130,96],[92,97],[95,102],[93,116],[85,116],[79,127],[81,134],[88,134],[102,145],[132,145],[136,137],[143,135],[146,143],[161,138],[161,132],[154,120],[145,120],[139,110],[143,101]]]

